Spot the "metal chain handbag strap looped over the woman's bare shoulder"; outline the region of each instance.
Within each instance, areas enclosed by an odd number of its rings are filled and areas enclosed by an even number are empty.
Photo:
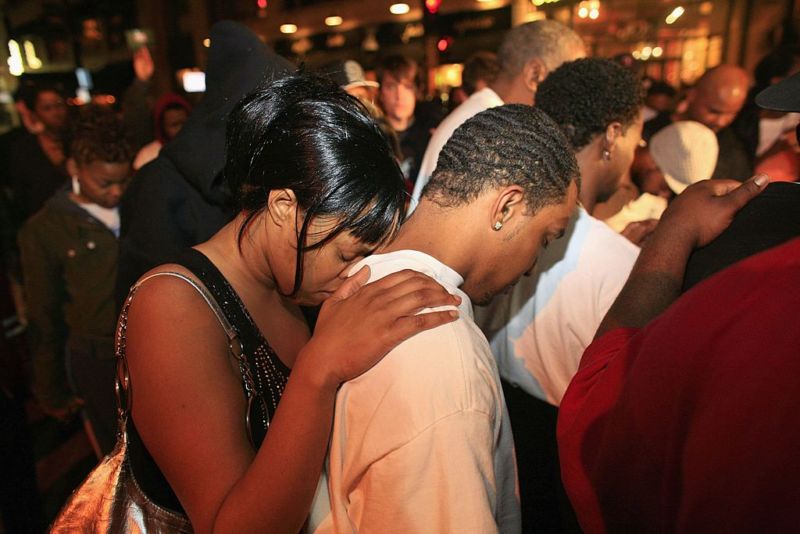
[[[199,284],[193,278],[186,276],[183,273],[178,273],[175,271],[162,271],[158,273],[153,273],[149,276],[146,276],[136,282],[136,284],[131,288],[130,292],[128,293],[128,298],[125,299],[125,304],[122,307],[122,312],[120,313],[119,322],[117,324],[117,335],[116,335],[116,359],[117,359],[117,373],[114,380],[114,391],[117,397],[117,419],[118,419],[118,434],[122,434],[125,436],[127,440],[127,433],[125,432],[128,415],[130,414],[131,408],[131,392],[130,392],[130,375],[128,373],[128,362],[125,358],[125,345],[126,345],[126,331],[128,328],[128,309],[131,306],[133,301],[133,296],[136,293],[136,290],[139,287],[147,282],[148,280],[155,278],[157,276],[173,276],[175,278],[179,278],[192,286],[200,296],[203,297],[203,300],[206,301],[206,304],[211,308],[214,312],[214,315],[217,317],[222,329],[225,331],[225,336],[228,338],[228,350],[230,351],[231,355],[236,359],[237,363],[239,364],[239,371],[242,374],[242,381],[244,382],[245,393],[247,395],[248,400],[253,398],[254,396],[258,395],[255,387],[255,380],[253,379],[252,371],[250,370],[250,364],[247,361],[247,358],[244,354],[244,347],[242,345],[241,340],[239,339],[239,334],[236,329],[233,328],[228,318],[225,316],[225,313],[220,308],[219,304],[217,303],[214,296],[206,289],[205,286]],[[247,422],[249,426],[249,414],[247,414]]]

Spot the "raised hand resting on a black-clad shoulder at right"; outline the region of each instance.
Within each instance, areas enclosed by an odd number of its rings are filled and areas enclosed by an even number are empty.
[[[689,247],[709,244],[730,226],[734,215],[769,183],[766,174],[744,183],[703,180],[686,188],[661,217],[659,230],[674,233]]]

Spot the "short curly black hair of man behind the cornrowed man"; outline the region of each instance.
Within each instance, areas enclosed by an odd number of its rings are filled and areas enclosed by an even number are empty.
[[[565,63],[539,85],[536,107],[555,120],[575,151],[605,132],[612,122],[623,129],[644,104],[642,81],[610,59]]]

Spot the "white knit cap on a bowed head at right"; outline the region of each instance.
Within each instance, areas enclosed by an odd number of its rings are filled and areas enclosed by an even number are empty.
[[[649,147],[653,161],[675,194],[708,180],[717,166],[717,135],[699,122],[673,122],[653,135]]]

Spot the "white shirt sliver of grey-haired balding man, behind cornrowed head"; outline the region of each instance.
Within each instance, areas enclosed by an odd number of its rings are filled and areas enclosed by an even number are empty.
[[[436,127],[431,140],[428,141],[425,155],[422,157],[419,175],[414,184],[414,192],[411,194],[411,203],[408,206],[408,215],[411,215],[417,209],[417,204],[419,204],[419,199],[422,196],[422,188],[428,183],[431,174],[436,169],[436,162],[439,161],[439,152],[442,151],[445,143],[456,131],[456,128],[481,111],[502,105],[503,101],[497,96],[497,93],[486,87],[472,93],[468,99],[462,102]]]

